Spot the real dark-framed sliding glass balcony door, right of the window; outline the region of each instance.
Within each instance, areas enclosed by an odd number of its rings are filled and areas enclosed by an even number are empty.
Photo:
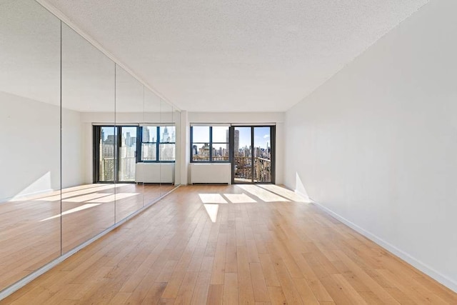
[[[232,183],[274,183],[274,126],[232,126]]]

